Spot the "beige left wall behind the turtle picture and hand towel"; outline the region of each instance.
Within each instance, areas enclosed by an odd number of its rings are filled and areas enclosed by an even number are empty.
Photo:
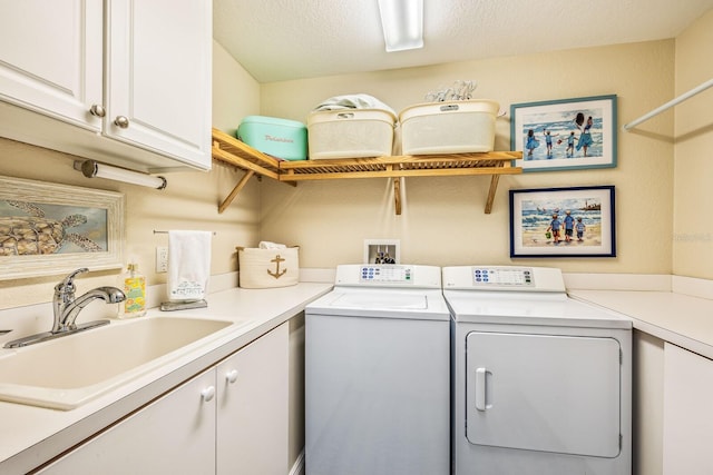
[[[260,85],[223,48],[214,43],[214,123],[235,129],[246,115],[258,113]],[[166,235],[156,230],[204,229],[216,231],[212,274],[237,269],[235,246],[254,246],[258,240],[260,184],[248,182],[231,207],[218,215],[217,205],[243,176],[233,167],[214,164],[209,172],[166,174],[168,187],[153,190],[105,179],[87,179],[72,169],[75,157],[0,138],[0,175],[98,188],[125,194],[126,258],[134,259],[148,284],[166,281],[155,274],[156,246],[166,246]],[[89,266],[91,267],[91,266]],[[119,270],[92,273],[78,280],[79,290],[114,281]],[[51,300],[58,277],[0,280],[0,309]]]

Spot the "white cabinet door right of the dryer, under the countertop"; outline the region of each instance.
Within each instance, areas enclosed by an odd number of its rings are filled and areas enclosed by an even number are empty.
[[[663,473],[711,474],[713,360],[664,345]]]

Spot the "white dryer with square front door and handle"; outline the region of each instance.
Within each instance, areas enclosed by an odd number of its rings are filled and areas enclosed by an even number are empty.
[[[631,475],[632,321],[559,269],[442,269],[456,475]]]

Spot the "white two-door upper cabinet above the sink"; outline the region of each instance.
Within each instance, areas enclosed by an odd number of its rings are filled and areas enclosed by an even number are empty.
[[[211,168],[212,2],[2,10],[0,136],[144,171]]]

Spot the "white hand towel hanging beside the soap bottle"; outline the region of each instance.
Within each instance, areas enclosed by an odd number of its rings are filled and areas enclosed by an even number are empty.
[[[211,277],[209,231],[168,231],[168,299],[201,300]]]

